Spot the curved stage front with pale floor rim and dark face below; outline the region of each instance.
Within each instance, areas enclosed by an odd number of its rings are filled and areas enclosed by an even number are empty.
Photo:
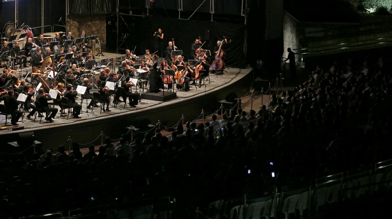
[[[35,122],[24,120],[23,123],[18,123],[25,129],[2,130],[0,138],[3,142],[16,141],[19,133],[32,131],[36,140],[42,142],[44,148],[54,148],[64,143],[68,136],[78,143],[87,143],[96,138],[101,131],[105,136],[117,139],[125,133],[125,127],[133,125],[135,118],[140,116],[148,116],[153,125],[158,120],[163,125],[174,125],[181,115],[185,116],[186,121],[193,120],[197,118],[202,109],[206,114],[219,109],[220,104],[217,101],[223,100],[229,92],[234,91],[241,96],[249,91],[253,80],[252,69],[230,67],[225,70],[227,71],[225,74],[210,76],[210,83],[206,80],[201,88],[193,85],[188,92],[178,90],[177,97],[172,100],[160,102],[142,99],[142,103],[139,103],[136,108],[125,106],[125,109],[124,104],[120,103],[117,105],[118,109],[111,108],[111,112],[102,112],[102,114],[99,108],[94,108],[94,114],[83,113],[81,119],[73,119],[71,116],[69,119],[55,118],[53,123],[39,124],[39,118]],[[78,98],[76,101],[80,102],[80,100]],[[82,110],[86,110],[85,103]],[[4,119],[4,116],[1,119]]]

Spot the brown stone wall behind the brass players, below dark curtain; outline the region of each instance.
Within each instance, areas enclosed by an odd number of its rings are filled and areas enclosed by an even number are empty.
[[[67,26],[72,32],[73,38],[76,39],[82,34],[82,30],[86,31],[87,36],[97,35],[101,41],[101,49],[106,48],[106,16],[69,16]]]

